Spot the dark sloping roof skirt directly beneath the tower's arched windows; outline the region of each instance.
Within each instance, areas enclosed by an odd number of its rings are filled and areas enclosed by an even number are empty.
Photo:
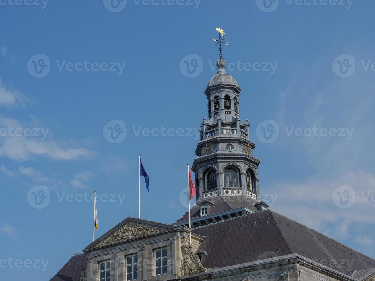
[[[208,208],[208,215],[216,214],[220,212],[229,211],[232,209],[237,209],[241,207],[248,207],[254,211],[257,211],[255,208],[254,199],[251,199],[247,196],[218,196],[209,199],[204,199],[198,203],[198,205],[193,206],[190,209],[191,219],[199,218],[199,208],[202,204],[206,202],[211,202],[213,205]],[[181,221],[189,220],[189,213],[184,214],[176,223]]]

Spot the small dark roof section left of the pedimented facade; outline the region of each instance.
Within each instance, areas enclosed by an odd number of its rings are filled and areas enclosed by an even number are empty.
[[[81,271],[87,265],[85,253],[75,254],[50,281],[79,281]]]

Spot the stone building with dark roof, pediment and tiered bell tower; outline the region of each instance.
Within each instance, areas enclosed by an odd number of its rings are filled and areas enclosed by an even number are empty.
[[[217,61],[192,170],[196,205],[176,223],[126,218],[51,281],[375,281],[375,260],[259,201],[241,88]],[[189,243],[191,233],[191,243]]]

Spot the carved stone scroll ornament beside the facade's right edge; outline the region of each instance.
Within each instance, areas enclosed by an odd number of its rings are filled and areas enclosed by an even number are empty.
[[[182,262],[181,262],[181,275],[190,275],[198,272],[205,272],[197,254],[192,252],[192,244],[186,242],[185,238],[181,239]]]

